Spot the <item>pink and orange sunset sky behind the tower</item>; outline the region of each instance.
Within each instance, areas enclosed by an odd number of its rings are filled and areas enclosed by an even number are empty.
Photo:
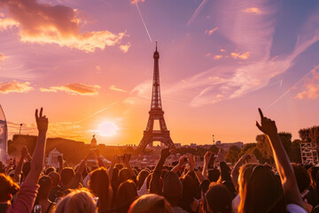
[[[317,0],[0,0],[0,105],[10,138],[43,106],[49,137],[137,145],[158,41],[175,143],[254,142],[258,107],[299,138],[319,124],[318,40]]]

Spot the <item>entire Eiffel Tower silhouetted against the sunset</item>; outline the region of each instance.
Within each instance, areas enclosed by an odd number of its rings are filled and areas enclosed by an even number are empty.
[[[159,141],[166,146],[175,148],[175,145],[170,138],[169,130],[167,130],[167,125],[164,120],[164,111],[162,109],[160,100],[160,90],[159,90],[159,51],[153,54],[154,58],[154,73],[153,73],[153,83],[152,83],[152,103],[151,110],[149,111],[149,120],[147,122],[146,130],[144,130],[144,136],[138,145],[136,151],[137,153],[143,153],[147,145],[152,146],[153,141]],[[159,130],[153,130],[154,121],[159,121]]]

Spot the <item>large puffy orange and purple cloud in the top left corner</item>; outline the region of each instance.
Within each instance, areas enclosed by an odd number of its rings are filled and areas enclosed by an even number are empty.
[[[40,4],[35,0],[3,1],[8,18],[0,21],[0,28],[19,26],[20,41],[24,43],[56,43],[59,46],[92,52],[121,43],[125,32],[113,34],[108,30],[80,33],[78,11],[63,5]]]

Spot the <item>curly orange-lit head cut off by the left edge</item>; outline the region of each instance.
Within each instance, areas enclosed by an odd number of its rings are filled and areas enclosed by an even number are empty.
[[[11,177],[0,174],[0,202],[12,201],[12,195],[19,192],[19,185]]]

